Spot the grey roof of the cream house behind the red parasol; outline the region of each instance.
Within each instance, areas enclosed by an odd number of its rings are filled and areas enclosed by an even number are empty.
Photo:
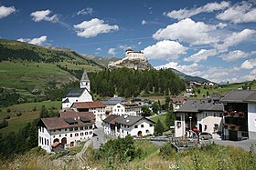
[[[189,98],[176,112],[197,113],[200,111],[223,111],[222,104],[214,104],[212,99]]]

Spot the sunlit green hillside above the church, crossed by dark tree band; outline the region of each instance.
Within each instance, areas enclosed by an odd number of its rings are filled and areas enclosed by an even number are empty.
[[[87,72],[100,71],[102,68],[99,65],[91,64],[91,60],[86,60],[72,50],[54,50],[42,46],[29,45],[14,40],[0,39],[0,45],[4,45],[11,50],[27,49],[33,50],[41,58],[59,57],[58,63],[37,63],[27,62],[26,60],[18,59],[12,62],[2,61],[0,63],[0,86],[8,88],[16,88],[25,90],[29,88],[46,88],[49,81],[55,81],[59,84],[65,84],[70,81],[77,80],[73,75],[63,71],[57,65],[67,66],[68,69],[79,70],[81,68]],[[1,53],[1,52],[0,52]],[[6,56],[8,57],[8,56]]]

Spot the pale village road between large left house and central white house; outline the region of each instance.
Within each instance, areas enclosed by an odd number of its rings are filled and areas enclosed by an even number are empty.
[[[94,149],[99,149],[101,145],[105,144],[104,129],[101,123],[96,122],[97,128],[94,129],[94,136],[92,137],[92,144]]]

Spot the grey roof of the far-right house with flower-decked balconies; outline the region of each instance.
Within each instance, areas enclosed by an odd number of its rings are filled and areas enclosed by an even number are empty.
[[[256,102],[255,90],[234,90],[220,99],[221,103]]]

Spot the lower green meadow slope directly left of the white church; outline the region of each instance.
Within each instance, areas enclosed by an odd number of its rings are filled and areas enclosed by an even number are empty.
[[[23,128],[27,123],[32,122],[34,119],[39,117],[39,113],[42,105],[46,105],[47,108],[52,108],[54,112],[58,112],[61,106],[60,101],[45,101],[40,103],[27,103],[21,105],[11,105],[1,109],[0,120],[2,121],[6,115],[10,115],[11,118],[7,119],[9,125],[3,129],[0,129],[1,134],[9,132],[18,132],[19,129]],[[36,107],[36,111],[33,111]],[[7,113],[7,109],[11,109],[10,113]],[[16,116],[17,113],[21,113],[21,116]]]

